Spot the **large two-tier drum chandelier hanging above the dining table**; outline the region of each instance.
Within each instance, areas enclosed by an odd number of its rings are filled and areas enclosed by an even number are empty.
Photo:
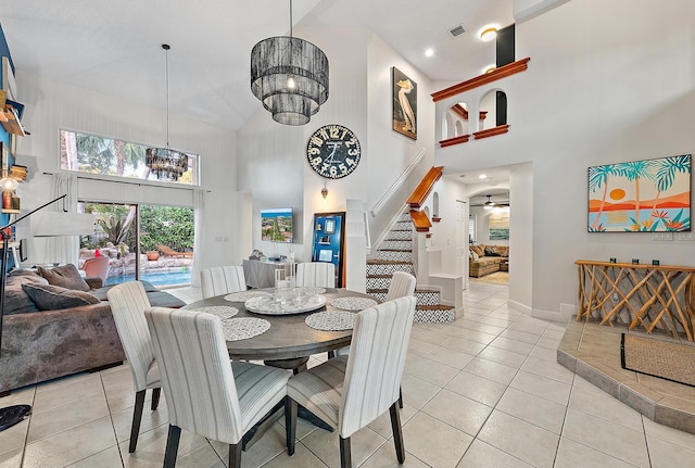
[[[328,58],[292,36],[264,39],[251,50],[251,91],[283,125],[305,125],[328,99]]]

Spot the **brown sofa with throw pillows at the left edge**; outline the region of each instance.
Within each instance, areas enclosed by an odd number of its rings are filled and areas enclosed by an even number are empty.
[[[101,278],[75,265],[8,275],[0,395],[21,387],[123,363],[125,354]],[[153,306],[184,302],[142,281]]]

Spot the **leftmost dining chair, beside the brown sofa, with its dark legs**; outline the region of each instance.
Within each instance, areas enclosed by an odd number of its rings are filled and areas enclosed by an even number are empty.
[[[140,281],[128,281],[114,286],[106,292],[106,296],[132,375],[135,409],[128,452],[134,453],[138,445],[146,391],[152,389],[151,408],[155,410],[160,403],[162,387],[150,339],[150,329],[144,319],[144,311],[150,308],[150,300]]]

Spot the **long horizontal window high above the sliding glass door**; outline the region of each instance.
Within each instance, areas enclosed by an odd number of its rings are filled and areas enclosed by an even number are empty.
[[[61,169],[156,181],[144,165],[149,146],[98,135],[61,130]],[[177,182],[199,185],[198,155],[188,154],[188,170]]]

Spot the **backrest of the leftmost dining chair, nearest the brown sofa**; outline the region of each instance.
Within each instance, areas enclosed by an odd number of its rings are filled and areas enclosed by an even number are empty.
[[[150,300],[140,281],[114,286],[106,292],[113,320],[123,351],[126,353],[136,392],[147,389],[148,370],[154,362],[154,350],[144,311]]]

